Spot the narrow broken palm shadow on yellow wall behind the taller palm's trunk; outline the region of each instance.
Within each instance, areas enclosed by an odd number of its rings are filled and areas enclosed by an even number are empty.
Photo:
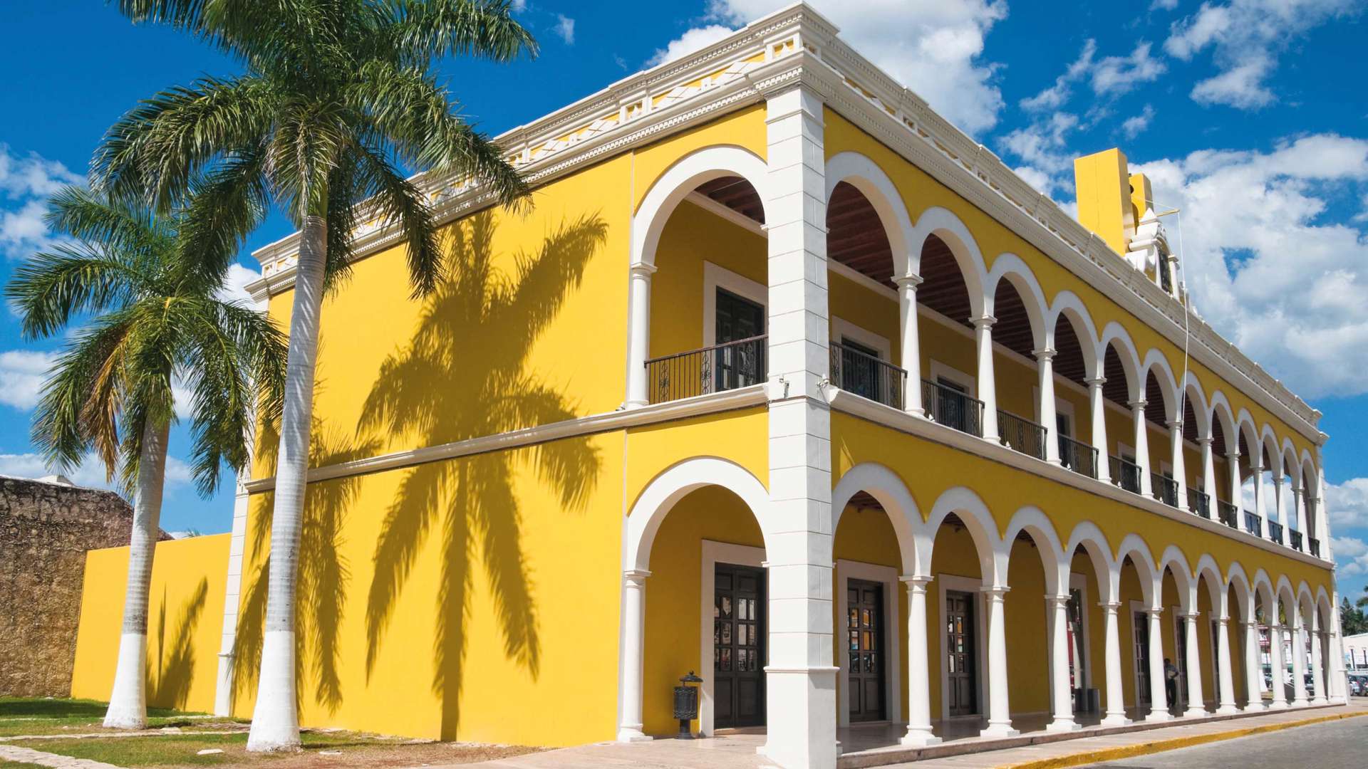
[[[321,383],[315,387],[315,395]],[[271,461],[271,452],[279,442],[275,426],[264,426],[261,456]],[[309,467],[326,467],[338,462],[375,456],[376,441],[352,441],[337,434],[326,434],[320,423],[313,423],[313,438],[309,445]],[[346,525],[347,508],[360,493],[360,476],[338,478],[308,484],[304,501],[304,525],[300,532],[298,576],[295,599],[298,610],[294,617],[295,679],[304,680],[312,675],[315,702],[335,713],[342,705],[341,647],[338,636],[343,620],[346,588],[352,571],[342,556],[342,531]],[[275,494],[256,497],[257,509],[252,514],[252,553],[263,553],[271,539],[271,521],[275,510]],[[265,627],[265,603],[271,557],[261,558],[252,569],[250,580],[244,579],[244,597],[238,613],[238,634],[233,654],[233,696],[256,688],[261,668],[261,640]],[[297,687],[302,701],[304,687]]]

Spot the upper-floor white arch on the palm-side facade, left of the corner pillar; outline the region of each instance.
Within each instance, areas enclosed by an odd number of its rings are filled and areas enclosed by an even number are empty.
[[[761,205],[769,207],[769,168],[754,152],[729,145],[694,151],[674,161],[651,183],[651,190],[632,216],[631,264],[654,265],[661,233],[674,207],[699,185],[720,177],[741,177],[759,193]]]

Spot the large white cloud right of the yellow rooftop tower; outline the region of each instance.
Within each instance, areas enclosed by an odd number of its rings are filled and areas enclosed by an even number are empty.
[[[1138,164],[1170,220],[1197,308],[1304,397],[1368,391],[1368,238],[1326,218],[1368,183],[1368,140],[1315,134],[1271,152],[1200,151]]]

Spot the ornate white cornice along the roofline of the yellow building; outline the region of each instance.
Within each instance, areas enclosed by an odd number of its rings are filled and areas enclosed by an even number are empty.
[[[1194,360],[1306,439],[1321,441],[1316,427],[1320,412],[836,34],[837,29],[813,8],[789,5],[684,59],[637,73],[506,131],[497,142],[529,182],[543,185],[606,156],[762,101],[769,93],[803,85],[1176,346],[1183,346],[1186,315]],[[494,204],[492,196],[462,179],[420,174],[415,181],[430,190],[440,222]],[[397,227],[375,220],[358,227],[354,238],[357,257],[399,239]],[[260,301],[293,285],[297,250],[294,234],[253,253],[263,265],[261,281],[248,286],[253,298]]]

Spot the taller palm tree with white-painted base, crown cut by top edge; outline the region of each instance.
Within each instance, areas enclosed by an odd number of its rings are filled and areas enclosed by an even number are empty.
[[[207,177],[190,222],[207,242],[250,226],[268,203],[300,229],[289,369],[275,479],[269,595],[248,750],[300,744],[294,592],[324,289],[346,270],[361,216],[397,226],[415,297],[443,278],[436,220],[398,166],[484,185],[505,204],[527,185],[453,109],[432,64],[535,55],[508,0],[122,0],[237,57],[245,73],[161,92],[116,122],[96,155],[104,189],[175,205]],[[363,207],[364,203],[364,207]],[[205,268],[220,265],[205,260]]]

